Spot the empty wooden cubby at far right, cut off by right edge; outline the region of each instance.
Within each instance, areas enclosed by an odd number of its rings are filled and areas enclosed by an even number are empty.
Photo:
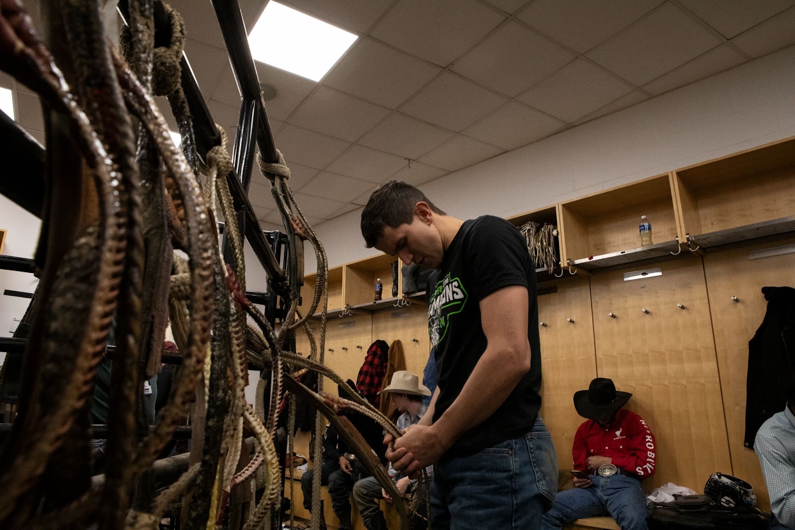
[[[795,231],[795,138],[674,172],[681,232],[702,248]]]

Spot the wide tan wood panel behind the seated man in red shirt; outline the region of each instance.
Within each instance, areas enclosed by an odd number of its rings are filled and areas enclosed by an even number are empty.
[[[622,273],[634,269],[591,276],[597,372],[634,394],[627,407],[657,438],[646,488],[700,491],[710,473],[731,469],[704,271],[697,256],[659,266],[662,276],[628,282]]]

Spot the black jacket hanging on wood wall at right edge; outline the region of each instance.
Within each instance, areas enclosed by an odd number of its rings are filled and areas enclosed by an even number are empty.
[[[754,447],[756,431],[770,416],[784,410],[778,374],[795,366],[795,289],[762,287],[767,311],[748,342],[745,446]]]

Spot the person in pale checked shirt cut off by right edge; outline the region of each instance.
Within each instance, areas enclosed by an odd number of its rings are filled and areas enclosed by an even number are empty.
[[[770,493],[770,530],[790,530],[795,528],[795,368],[781,374],[778,388],[787,405],[759,427],[754,451]]]

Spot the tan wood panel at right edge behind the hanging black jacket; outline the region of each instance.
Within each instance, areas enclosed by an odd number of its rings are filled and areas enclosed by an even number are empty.
[[[704,256],[733,474],[754,486],[762,509],[770,509],[762,471],[754,451],[743,446],[748,341],[765,317],[767,302],[762,287],[795,286],[795,254],[749,260],[748,253],[784,244],[795,244],[795,238],[747,244]]]

